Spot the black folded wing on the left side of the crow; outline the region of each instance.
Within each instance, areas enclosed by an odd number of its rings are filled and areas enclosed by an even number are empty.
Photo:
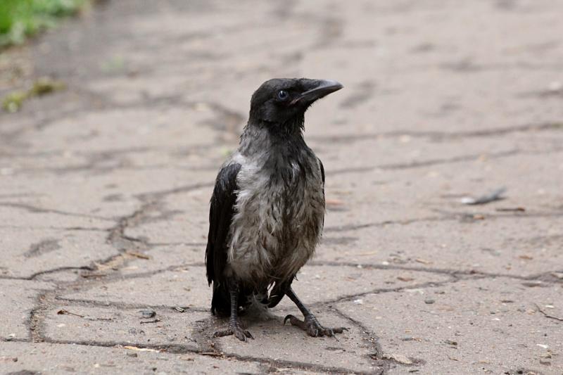
[[[236,174],[240,169],[241,165],[238,163],[225,165],[215,180],[209,210],[207,248],[205,249],[205,266],[209,284],[213,280],[218,281],[222,278],[224,267],[227,264],[227,241],[238,189]]]

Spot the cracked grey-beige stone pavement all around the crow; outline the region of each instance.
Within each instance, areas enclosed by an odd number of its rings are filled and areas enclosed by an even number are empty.
[[[0,372],[563,374],[562,12],[106,1],[6,52],[68,89],[0,115]],[[350,330],[283,326],[284,299],[211,338],[208,200],[283,76],[345,86],[307,116],[328,213],[294,286]]]

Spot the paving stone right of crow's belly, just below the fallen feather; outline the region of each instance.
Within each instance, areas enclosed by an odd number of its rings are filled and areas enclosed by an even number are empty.
[[[563,268],[557,221],[474,215],[327,233],[316,259],[523,277]]]

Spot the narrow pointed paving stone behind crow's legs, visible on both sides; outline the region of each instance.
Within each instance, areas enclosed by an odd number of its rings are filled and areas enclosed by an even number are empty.
[[[150,261],[149,261],[150,262]],[[139,260],[139,263],[141,261]],[[149,306],[189,306],[205,310],[210,307],[211,288],[207,286],[204,267],[179,266],[156,274],[138,271],[127,279],[106,281],[85,291],[63,295],[70,300],[95,300],[100,303],[135,303]],[[308,304],[353,298],[362,293],[394,288],[415,288],[429,282],[448,281],[443,274],[395,269],[360,269],[358,267],[306,266],[293,286]],[[338,288],[327,289],[327,282]],[[361,298],[361,297],[358,297]],[[292,307],[284,299],[280,305]]]

